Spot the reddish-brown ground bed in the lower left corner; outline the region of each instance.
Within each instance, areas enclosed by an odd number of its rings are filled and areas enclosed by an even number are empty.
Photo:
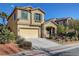
[[[0,55],[12,55],[20,51],[23,51],[23,49],[19,48],[15,43],[0,44]]]

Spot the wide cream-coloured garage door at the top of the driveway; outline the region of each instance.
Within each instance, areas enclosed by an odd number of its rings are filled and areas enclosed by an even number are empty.
[[[20,29],[19,34],[24,38],[38,38],[38,29]]]

